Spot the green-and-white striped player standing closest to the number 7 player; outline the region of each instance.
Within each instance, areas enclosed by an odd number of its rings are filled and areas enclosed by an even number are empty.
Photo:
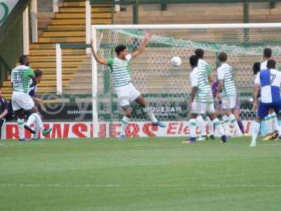
[[[226,63],[227,59],[228,56],[225,52],[218,54],[218,60],[221,62],[221,67],[218,68],[218,88],[216,91],[216,99],[217,101],[222,101],[223,110],[226,114],[223,116],[225,129],[229,129],[229,124],[233,124],[236,135],[242,136],[242,132],[240,131],[240,127],[232,111],[236,104],[236,88],[233,68]]]

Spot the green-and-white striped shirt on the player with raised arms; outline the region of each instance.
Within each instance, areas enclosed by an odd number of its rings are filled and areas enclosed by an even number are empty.
[[[107,64],[112,70],[112,80],[114,87],[123,87],[131,82],[131,68],[129,65],[130,61],[131,54],[128,54],[125,60],[121,60],[117,57],[107,59]]]

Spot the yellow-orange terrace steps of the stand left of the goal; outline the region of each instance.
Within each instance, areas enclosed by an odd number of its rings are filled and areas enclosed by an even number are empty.
[[[46,6],[48,7],[48,4]],[[112,7],[93,6],[91,11],[92,24],[112,23]],[[51,17],[50,13],[39,13],[39,42],[30,45],[30,66],[44,71],[45,80],[39,84],[39,94],[55,93],[56,91],[55,44],[85,43],[86,41],[85,1],[64,1],[59,12],[55,13],[51,20],[46,17]],[[49,23],[43,29],[46,20]],[[63,87],[70,84],[75,72],[83,70],[85,60],[89,60],[85,49],[63,49]],[[89,71],[90,69],[88,69]],[[79,77],[79,74],[77,77]],[[11,76],[8,77],[2,87],[2,92],[6,98],[11,98],[10,79]],[[71,92],[79,87],[73,87],[72,85],[68,86],[72,89],[67,89],[67,91]]]

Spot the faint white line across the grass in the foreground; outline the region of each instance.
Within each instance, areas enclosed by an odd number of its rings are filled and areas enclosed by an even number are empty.
[[[47,187],[47,188],[281,188],[281,184],[0,184],[4,187]]]

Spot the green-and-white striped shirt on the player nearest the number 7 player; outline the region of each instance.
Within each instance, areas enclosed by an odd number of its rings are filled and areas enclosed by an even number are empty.
[[[223,96],[236,96],[234,70],[227,63],[218,68],[218,80],[223,81]]]

